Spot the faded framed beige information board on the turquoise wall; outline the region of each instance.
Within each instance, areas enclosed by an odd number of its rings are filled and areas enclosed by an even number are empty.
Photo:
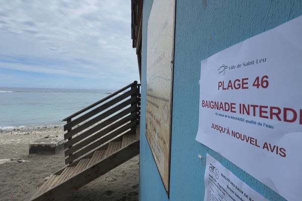
[[[148,19],[145,134],[169,191],[175,0],[154,0]]]

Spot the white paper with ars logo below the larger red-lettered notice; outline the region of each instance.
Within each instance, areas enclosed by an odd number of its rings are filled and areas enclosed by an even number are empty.
[[[209,154],[206,154],[204,186],[204,201],[267,201]]]

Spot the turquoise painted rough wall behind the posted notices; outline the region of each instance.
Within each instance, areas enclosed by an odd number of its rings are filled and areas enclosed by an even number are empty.
[[[153,0],[143,1],[139,199],[169,200],[144,135],[147,21]],[[200,61],[302,15],[302,1],[177,0],[170,200],[203,200],[209,153],[269,200],[281,196],[216,152],[195,141],[198,129]],[[264,170],[266,171],[266,170]]]

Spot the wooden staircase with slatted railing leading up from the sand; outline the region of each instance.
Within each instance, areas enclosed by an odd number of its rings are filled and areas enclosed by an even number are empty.
[[[139,115],[139,84],[134,81],[65,118],[67,165],[50,175],[31,200],[63,200],[71,191],[138,155]]]

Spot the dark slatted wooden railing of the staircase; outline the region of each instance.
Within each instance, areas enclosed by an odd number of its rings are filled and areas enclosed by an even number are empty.
[[[110,140],[135,134],[139,125],[140,84],[137,81],[117,90],[83,110],[66,117],[65,164],[103,149]]]

